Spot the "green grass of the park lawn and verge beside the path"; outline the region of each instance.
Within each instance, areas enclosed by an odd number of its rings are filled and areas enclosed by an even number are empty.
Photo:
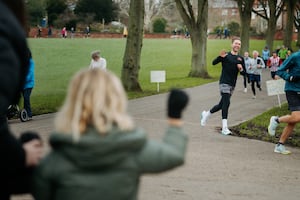
[[[122,60],[126,40],[120,39],[29,39],[36,63],[36,86],[32,92],[31,101],[33,114],[55,112],[62,104],[72,75],[90,63],[90,53],[101,50],[106,58],[108,69],[121,74]],[[156,84],[150,83],[151,70],[165,70],[166,83],[160,84],[160,93],[167,92],[171,87],[187,88],[199,86],[219,79],[221,67],[212,67],[212,60],[218,56],[221,49],[230,50],[230,40],[208,40],[207,67],[211,79],[187,77],[191,65],[191,43],[186,39],[144,39],[141,57],[139,81],[142,93],[128,93],[129,98],[138,98],[157,94]],[[276,41],[274,46],[281,44]],[[250,52],[261,52],[265,41],[250,41]],[[287,113],[286,106],[274,108],[256,118],[232,128],[234,135],[275,142],[276,137],[264,133],[271,115]],[[279,126],[281,132],[283,124]],[[259,131],[258,131],[259,130]],[[300,131],[288,140],[289,144],[300,147]],[[261,133],[261,134],[258,134]],[[277,135],[278,137],[278,135]]]

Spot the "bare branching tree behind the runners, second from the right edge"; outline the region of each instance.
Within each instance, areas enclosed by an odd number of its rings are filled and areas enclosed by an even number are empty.
[[[259,9],[252,11],[267,21],[266,44],[270,51],[273,50],[273,41],[276,33],[276,24],[284,8],[284,0],[260,0]]]

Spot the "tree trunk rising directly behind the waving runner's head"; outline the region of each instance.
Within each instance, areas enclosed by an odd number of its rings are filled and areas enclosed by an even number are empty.
[[[254,0],[235,0],[238,4],[241,21],[241,52],[249,51],[251,12]]]

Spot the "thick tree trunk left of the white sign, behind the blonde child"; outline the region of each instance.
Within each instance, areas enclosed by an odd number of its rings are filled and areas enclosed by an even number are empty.
[[[142,91],[138,79],[143,45],[144,8],[143,0],[130,1],[128,36],[121,75],[126,91]]]

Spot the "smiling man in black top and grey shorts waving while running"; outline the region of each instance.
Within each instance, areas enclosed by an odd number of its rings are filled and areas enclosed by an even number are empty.
[[[231,134],[228,129],[228,109],[230,105],[230,98],[234,91],[238,73],[244,74],[245,63],[244,58],[240,56],[239,50],[241,48],[241,40],[239,38],[233,38],[231,43],[231,51],[226,53],[225,50],[220,52],[220,55],[212,62],[213,65],[222,63],[222,72],[219,80],[219,87],[221,93],[220,102],[213,106],[209,111],[203,111],[201,113],[201,126],[206,125],[206,121],[209,116],[219,110],[222,110],[222,131],[223,135]]]

